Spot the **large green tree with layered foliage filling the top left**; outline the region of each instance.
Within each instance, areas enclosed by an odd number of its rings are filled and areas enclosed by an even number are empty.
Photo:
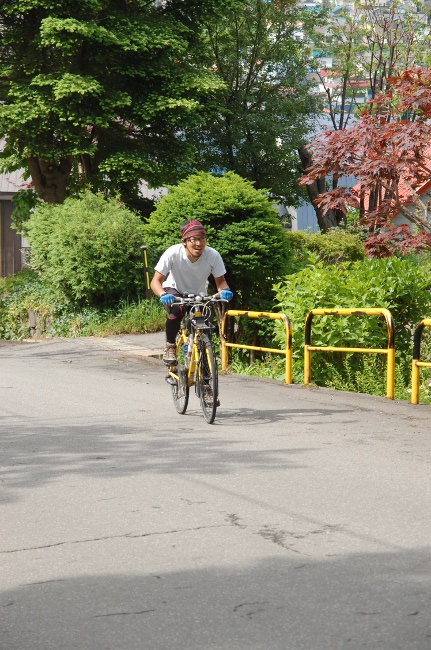
[[[1,0],[1,168],[23,167],[49,203],[181,177],[184,129],[220,88],[201,24],[232,2]]]

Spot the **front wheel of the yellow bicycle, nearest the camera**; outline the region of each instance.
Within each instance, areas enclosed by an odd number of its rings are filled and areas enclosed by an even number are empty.
[[[206,334],[200,336],[197,383],[202,412],[208,424],[214,422],[218,404],[218,371],[214,352]]]

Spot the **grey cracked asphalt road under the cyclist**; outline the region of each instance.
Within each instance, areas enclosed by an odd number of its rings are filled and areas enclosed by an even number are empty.
[[[1,650],[430,650],[431,407],[0,346]]]

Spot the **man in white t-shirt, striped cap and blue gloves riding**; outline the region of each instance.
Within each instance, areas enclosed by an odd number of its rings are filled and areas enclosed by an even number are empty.
[[[181,228],[181,244],[170,246],[155,266],[151,289],[168,312],[166,319],[166,347],[163,361],[176,362],[175,338],[184,315],[182,305],[175,297],[185,293],[206,295],[208,278],[214,276],[217,291],[223,300],[231,300],[233,293],[225,280],[226,269],[220,253],[206,245],[205,228],[193,219]]]

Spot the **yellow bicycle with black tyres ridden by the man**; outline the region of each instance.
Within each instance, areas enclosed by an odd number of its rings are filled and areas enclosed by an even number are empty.
[[[211,304],[228,301],[219,294],[205,297],[185,294],[182,298],[176,297],[175,302],[184,305],[187,313],[176,339],[177,360],[168,367],[166,378],[171,385],[174,406],[180,415],[185,414],[190,387],[194,385],[204,418],[212,424],[220,402],[217,363],[211,343],[215,329],[211,322]]]

